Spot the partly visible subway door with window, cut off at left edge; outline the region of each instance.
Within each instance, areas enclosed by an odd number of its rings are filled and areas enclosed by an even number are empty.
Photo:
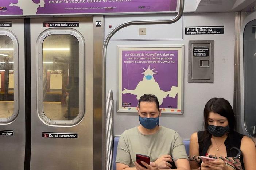
[[[0,169],[23,170],[24,19],[0,19]]]

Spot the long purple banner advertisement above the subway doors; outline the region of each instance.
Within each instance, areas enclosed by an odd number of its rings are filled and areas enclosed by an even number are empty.
[[[175,11],[177,0],[1,0],[0,15]]]

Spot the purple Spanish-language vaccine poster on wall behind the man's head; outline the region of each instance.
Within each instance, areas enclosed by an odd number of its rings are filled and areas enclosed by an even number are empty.
[[[122,50],[119,77],[122,109],[136,108],[143,94],[154,94],[160,108],[177,111],[181,79],[178,53],[178,50]]]

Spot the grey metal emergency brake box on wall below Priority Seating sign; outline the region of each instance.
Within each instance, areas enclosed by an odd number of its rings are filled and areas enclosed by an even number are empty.
[[[188,82],[213,83],[214,41],[189,41]]]

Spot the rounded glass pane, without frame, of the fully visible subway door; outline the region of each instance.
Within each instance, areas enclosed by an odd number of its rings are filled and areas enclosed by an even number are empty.
[[[79,113],[79,42],[72,35],[43,41],[43,112],[51,120],[72,120]]]

